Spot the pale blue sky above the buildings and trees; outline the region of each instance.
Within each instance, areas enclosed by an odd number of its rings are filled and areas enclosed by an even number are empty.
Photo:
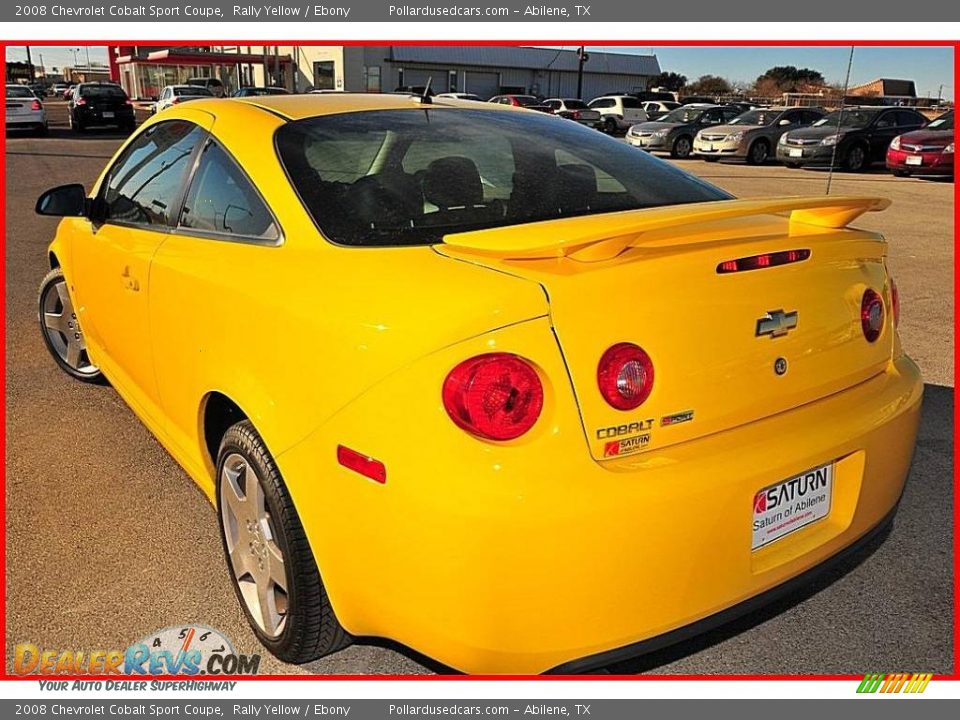
[[[429,43],[425,43],[429,44]],[[79,47],[79,46],[78,46]],[[570,46],[571,48],[573,46]],[[808,67],[823,73],[828,82],[842,84],[847,72],[849,46],[838,47],[663,47],[620,46],[590,47],[591,50],[625,53],[656,53],[663,70],[678,72],[695,80],[701,75],[719,75],[731,81],[752,82],[775,65]],[[73,64],[73,53],[64,47],[34,47],[33,61],[40,54],[48,68]],[[8,60],[25,60],[23,47],[8,46]],[[77,59],[86,62],[80,48]],[[105,47],[91,47],[92,62],[107,61]],[[853,54],[851,85],[879,77],[915,80],[917,94],[937,97],[943,84],[943,97],[953,99],[953,49],[949,47],[858,47]]]

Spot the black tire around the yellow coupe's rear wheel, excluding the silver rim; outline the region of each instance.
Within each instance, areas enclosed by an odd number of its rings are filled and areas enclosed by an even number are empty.
[[[287,577],[287,610],[283,630],[276,637],[263,632],[250,614],[237,579],[230,568],[227,539],[220,508],[223,466],[227,457],[239,454],[255,470],[264,492],[264,503],[284,557]],[[238,422],[224,433],[217,454],[217,519],[224,559],[240,607],[261,643],[284,662],[302,664],[341,650],[352,642],[333,612],[320,579],[316,560],[307,542],[280,471],[270,452],[248,420]]]

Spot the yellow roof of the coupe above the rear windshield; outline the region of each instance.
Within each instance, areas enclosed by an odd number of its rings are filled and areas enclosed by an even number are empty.
[[[476,103],[472,100],[436,97],[432,100],[432,105],[435,107],[464,108],[487,112],[511,111],[505,106]],[[216,114],[218,110],[230,107],[230,105],[224,103],[255,105],[286,120],[303,120],[321,115],[339,115],[372,110],[409,110],[411,108],[423,108],[426,105],[426,103],[421,102],[419,95],[348,92],[319,95],[261,95],[258,97],[230,98],[229,100],[194,100],[190,105],[194,108],[207,107]],[[523,111],[514,108],[512,112]]]

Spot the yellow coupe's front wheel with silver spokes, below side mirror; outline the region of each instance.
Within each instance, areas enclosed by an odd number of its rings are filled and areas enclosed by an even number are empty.
[[[43,343],[60,369],[83,382],[103,382],[103,374],[87,354],[83,330],[60,268],[48,272],[40,283],[38,305]]]

